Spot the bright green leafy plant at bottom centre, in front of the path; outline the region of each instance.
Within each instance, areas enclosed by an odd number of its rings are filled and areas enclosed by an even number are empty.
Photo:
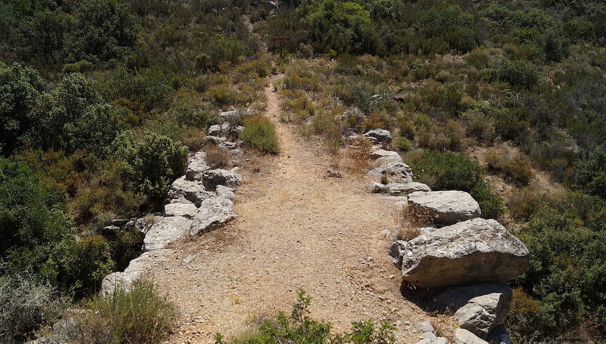
[[[379,326],[372,320],[352,322],[350,332],[332,334],[331,323],[318,322],[309,317],[311,297],[305,291],[298,291],[298,299],[290,314],[279,312],[275,317],[266,320],[258,329],[239,336],[224,339],[216,334],[215,344],[390,344],[395,343],[395,327],[388,322]]]

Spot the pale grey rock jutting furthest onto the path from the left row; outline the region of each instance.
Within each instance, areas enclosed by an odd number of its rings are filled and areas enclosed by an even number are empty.
[[[233,202],[225,197],[205,199],[190,225],[191,235],[208,231],[236,217]]]

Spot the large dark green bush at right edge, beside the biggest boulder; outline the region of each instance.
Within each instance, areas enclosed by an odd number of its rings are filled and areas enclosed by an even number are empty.
[[[521,342],[581,325],[604,332],[605,210],[598,197],[573,193],[524,225],[519,237],[531,252],[530,268],[511,284],[522,287],[525,303],[514,303],[507,320]]]

